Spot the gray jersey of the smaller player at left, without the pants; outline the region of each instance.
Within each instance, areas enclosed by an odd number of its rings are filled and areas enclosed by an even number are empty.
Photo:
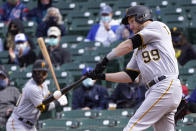
[[[42,101],[49,94],[46,83],[42,87],[37,86],[33,79],[30,79],[22,90],[22,96],[14,113],[20,117],[36,122],[40,115],[40,110],[36,107],[42,104]]]

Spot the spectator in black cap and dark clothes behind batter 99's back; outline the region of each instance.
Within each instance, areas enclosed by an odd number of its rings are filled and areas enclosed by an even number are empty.
[[[176,52],[176,58],[180,65],[186,64],[188,61],[196,59],[196,52],[192,45],[188,42],[180,28],[171,29],[172,41]]]

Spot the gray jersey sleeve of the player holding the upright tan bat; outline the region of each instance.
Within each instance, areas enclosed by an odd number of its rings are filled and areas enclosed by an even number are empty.
[[[35,107],[42,104],[44,98],[39,90],[31,88],[29,89],[28,94],[29,94],[30,101],[33,103]]]

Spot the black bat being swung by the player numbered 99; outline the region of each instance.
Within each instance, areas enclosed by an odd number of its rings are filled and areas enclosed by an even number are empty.
[[[87,78],[87,76],[82,76],[79,80],[75,81],[73,84],[71,84],[71,85],[69,85],[67,87],[64,87],[63,89],[60,90],[61,94],[62,95],[66,94],[68,91],[70,91],[71,89],[73,89],[74,87],[79,85],[86,78]],[[49,104],[50,102],[52,102],[54,100],[55,100],[55,98],[54,98],[53,94],[51,94],[46,99],[44,99],[42,101],[42,104],[47,105],[47,104]]]

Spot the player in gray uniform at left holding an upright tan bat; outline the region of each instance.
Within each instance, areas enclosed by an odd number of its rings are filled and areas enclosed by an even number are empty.
[[[41,112],[67,104],[67,98],[64,95],[47,106],[42,104],[43,99],[50,93],[45,82],[47,75],[48,65],[43,60],[37,60],[33,65],[33,78],[25,84],[22,95],[7,121],[7,131],[36,131],[35,123]]]

